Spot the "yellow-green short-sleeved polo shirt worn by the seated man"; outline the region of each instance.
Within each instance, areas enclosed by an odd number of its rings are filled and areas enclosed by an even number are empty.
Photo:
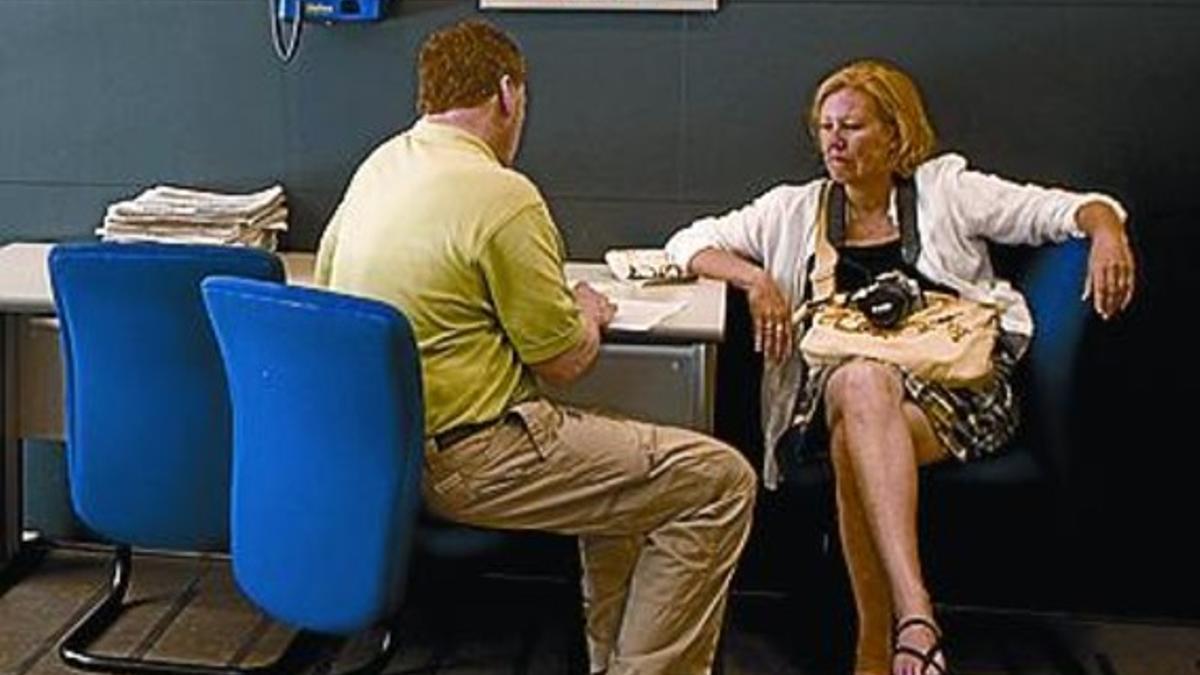
[[[478,137],[418,121],[359,167],[317,252],[317,282],[403,311],[426,434],[536,395],[526,364],[583,338],[545,201]]]

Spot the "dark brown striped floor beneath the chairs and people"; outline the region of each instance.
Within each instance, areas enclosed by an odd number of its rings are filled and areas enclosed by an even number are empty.
[[[56,644],[101,597],[107,555],[48,549],[0,585],[0,674],[74,673]],[[565,580],[479,578],[448,589],[414,584],[400,619],[400,650],[385,673],[563,674],[577,665],[574,595]],[[726,675],[844,670],[848,628],[773,593],[733,596],[721,665]],[[944,608],[958,673],[1184,675],[1200,673],[1200,626]],[[128,609],[94,646],[101,653],[253,664],[292,633],[239,595],[223,557],[136,557]],[[376,635],[352,639],[337,665],[370,653]],[[839,665],[842,664],[842,665]],[[329,664],[304,670],[325,673]]]

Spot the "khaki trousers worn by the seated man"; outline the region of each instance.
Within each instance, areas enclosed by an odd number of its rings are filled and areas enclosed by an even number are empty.
[[[578,536],[593,673],[709,673],[756,492],[737,450],[534,400],[448,448],[427,443],[425,471],[439,516]]]

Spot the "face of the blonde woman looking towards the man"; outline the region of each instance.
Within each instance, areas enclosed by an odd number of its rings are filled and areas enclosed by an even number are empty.
[[[818,139],[829,178],[844,185],[887,179],[895,168],[894,133],[858,89],[839,89],[821,103]]]

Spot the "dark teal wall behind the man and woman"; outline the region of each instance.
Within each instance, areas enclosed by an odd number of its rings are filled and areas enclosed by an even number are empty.
[[[282,66],[266,2],[0,1],[0,241],[88,235],[107,203],[155,183],[281,180],[288,243],[314,247],[353,167],[412,121],[419,41],[475,5],[400,0],[378,25],[311,26]],[[899,61],[946,148],[1129,205],[1144,289],[1128,318],[1088,331],[1076,420],[1088,520],[1074,581],[1092,608],[1200,615],[1194,537],[1147,532],[1200,515],[1200,369],[1178,328],[1200,292],[1200,4],[722,5],[490,14],[529,58],[518,163],[572,255],[659,244],[694,216],[814,175],[798,123],[817,79],[851,58]]]

